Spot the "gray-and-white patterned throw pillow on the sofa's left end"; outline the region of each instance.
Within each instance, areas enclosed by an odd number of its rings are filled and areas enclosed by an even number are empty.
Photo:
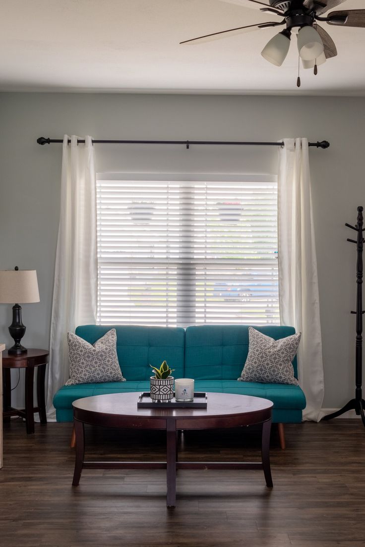
[[[67,333],[69,380],[78,383],[125,382],[117,356],[117,333],[109,330],[92,346],[76,334]]]

